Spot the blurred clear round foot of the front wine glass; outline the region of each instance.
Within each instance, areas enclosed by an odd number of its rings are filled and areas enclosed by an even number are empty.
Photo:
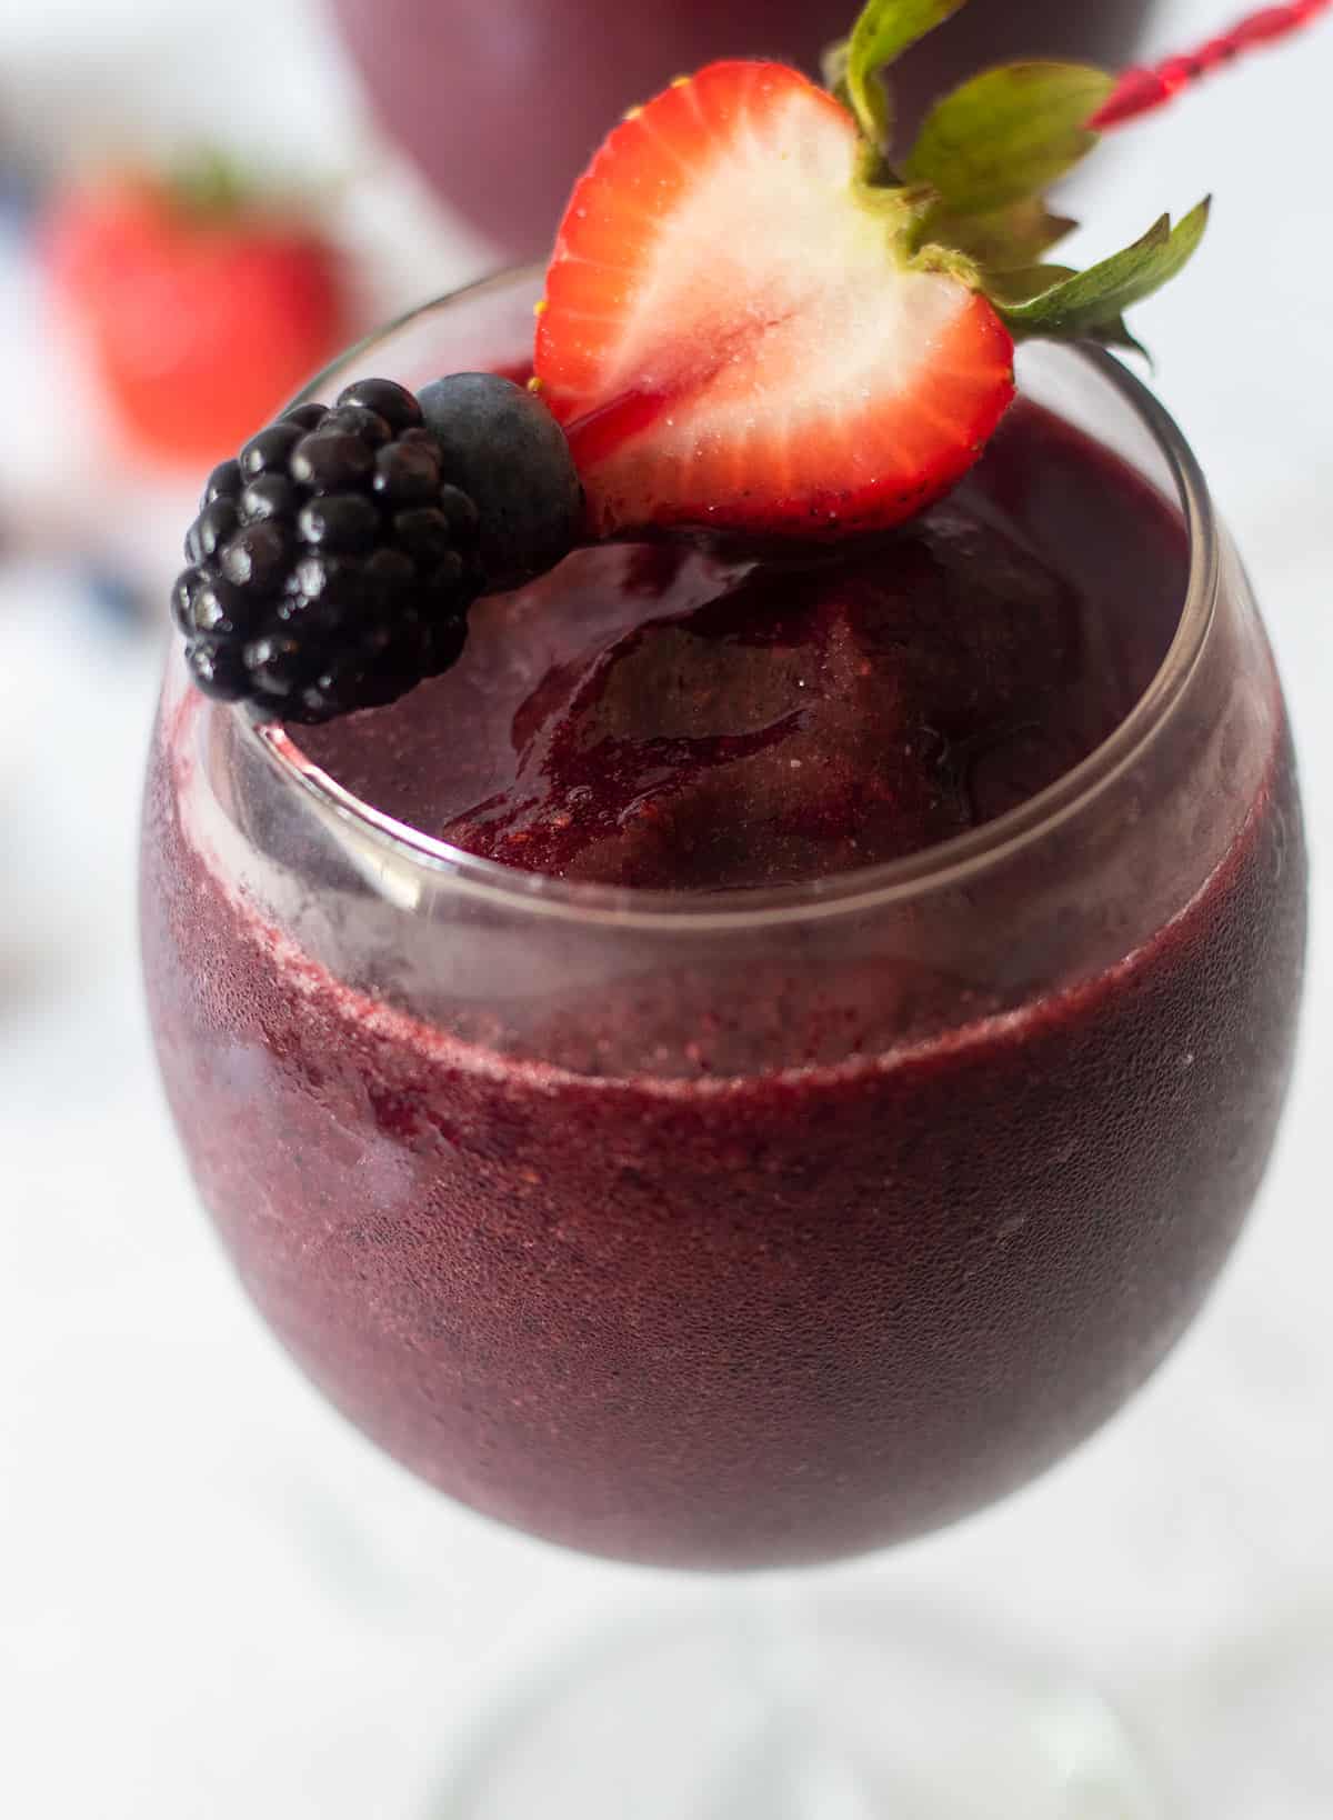
[[[742,1594],[555,1663],[438,1820],[1164,1820],[1093,1693],[877,1600]]]

